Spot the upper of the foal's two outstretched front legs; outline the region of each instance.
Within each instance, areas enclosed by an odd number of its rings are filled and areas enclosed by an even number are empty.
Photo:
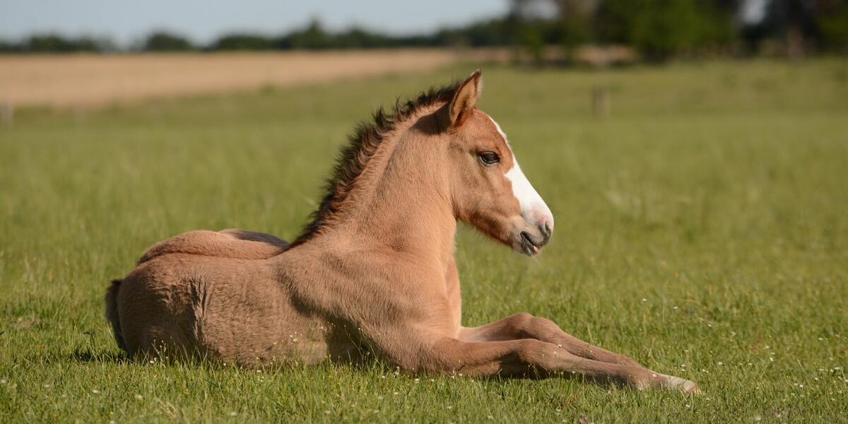
[[[554,343],[569,354],[576,355],[588,360],[596,360],[610,364],[638,367],[650,371],[639,362],[625,356],[602,349],[594,344],[584,342],[571,334],[563,332],[554,321],[540,318],[527,313],[508,316],[503,320],[494,321],[483,326],[462,328],[459,338],[468,342],[491,342],[503,340],[516,340],[522,338],[534,338],[547,343]],[[672,384],[694,384],[680,377],[666,376],[654,371],[652,374],[667,377]]]

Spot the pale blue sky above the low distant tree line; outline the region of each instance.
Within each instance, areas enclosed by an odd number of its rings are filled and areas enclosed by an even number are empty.
[[[281,34],[318,18],[330,30],[352,25],[389,34],[428,32],[505,14],[509,0],[0,0],[0,38],[33,33],[108,36],[120,45],[154,30],[211,42],[225,32]]]

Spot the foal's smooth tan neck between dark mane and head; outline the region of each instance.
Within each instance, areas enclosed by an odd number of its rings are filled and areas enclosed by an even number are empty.
[[[444,143],[425,116],[399,126],[377,148],[330,232],[357,247],[382,249],[445,268],[452,264],[456,219]],[[414,124],[414,125],[412,125]]]

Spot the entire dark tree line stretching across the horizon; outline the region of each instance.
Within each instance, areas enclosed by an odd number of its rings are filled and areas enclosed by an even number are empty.
[[[745,0],[513,0],[505,16],[431,34],[393,36],[364,28],[327,31],[318,20],[281,36],[231,33],[206,45],[156,31],[123,50],[221,52],[388,47],[522,47],[543,59],[548,46],[632,47],[646,59],[681,54],[751,54],[778,46],[789,55],[848,53],[848,0],[763,0],[762,16],[744,19]],[[0,40],[0,53],[109,53],[109,39],[33,35]]]

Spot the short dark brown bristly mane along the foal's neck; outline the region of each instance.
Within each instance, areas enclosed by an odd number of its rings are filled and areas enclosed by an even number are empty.
[[[394,103],[391,113],[386,113],[382,107],[374,113],[373,122],[360,122],[354,133],[348,137],[348,144],[341,148],[336,159],[336,166],[324,186],[324,198],[321,205],[310,215],[310,223],[304,226],[298,238],[290,247],[302,244],[321,231],[326,226],[329,217],[334,215],[343,204],[344,199],[354,187],[356,179],[365,170],[365,165],[371,156],[377,152],[377,147],[383,140],[383,135],[394,130],[399,123],[416,114],[420,109],[436,103],[447,103],[453,97],[460,83],[455,82],[439,88],[431,88],[415,100]]]

